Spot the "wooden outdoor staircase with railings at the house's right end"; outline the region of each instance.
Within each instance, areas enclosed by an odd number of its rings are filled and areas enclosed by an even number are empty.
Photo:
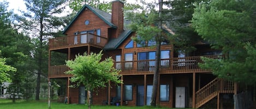
[[[234,83],[218,78],[212,80],[195,93],[195,107],[201,107],[220,93],[234,93]]]

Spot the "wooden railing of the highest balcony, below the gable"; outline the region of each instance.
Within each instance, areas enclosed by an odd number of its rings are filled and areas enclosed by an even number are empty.
[[[59,49],[67,47],[79,47],[91,44],[97,47],[104,47],[108,39],[91,33],[78,34],[73,36],[55,37],[49,39],[49,49]]]

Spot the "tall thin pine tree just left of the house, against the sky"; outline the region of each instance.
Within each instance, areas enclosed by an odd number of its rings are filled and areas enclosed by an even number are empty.
[[[39,89],[41,74],[47,76],[47,37],[51,36],[52,31],[60,27],[60,19],[56,17],[60,14],[66,3],[66,0],[25,0],[27,12],[21,18],[22,28],[27,30],[35,40],[35,49],[33,50],[34,59],[36,60],[37,87],[35,99],[39,100]]]

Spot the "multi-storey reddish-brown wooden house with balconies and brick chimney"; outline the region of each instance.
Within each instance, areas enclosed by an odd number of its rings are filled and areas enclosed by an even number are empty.
[[[86,99],[84,87],[72,85],[72,75],[64,74],[69,68],[65,65],[52,65],[52,52],[63,53],[72,60],[75,55],[87,52],[98,53],[103,50],[103,57],[111,56],[114,67],[121,69],[123,84],[112,85],[93,93],[95,105],[115,104],[127,106],[149,105],[156,48],[140,47],[130,37],[133,31],[123,28],[128,21],[123,18],[123,2],[112,2],[112,14],[85,5],[73,21],[63,31],[64,37],[49,40],[49,80],[64,79],[67,84],[64,96],[70,104],[83,104]],[[163,43],[158,81],[157,104],[166,107],[199,108],[206,102],[223,93],[236,93],[236,84],[217,79],[210,70],[200,69],[201,56],[221,58],[219,52],[210,49],[209,44],[197,44],[192,55],[174,51],[174,45]]]

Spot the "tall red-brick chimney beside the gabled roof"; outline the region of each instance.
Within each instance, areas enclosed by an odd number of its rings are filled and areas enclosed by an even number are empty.
[[[112,1],[111,22],[117,26],[112,38],[117,38],[123,31],[123,4],[121,0]]]

